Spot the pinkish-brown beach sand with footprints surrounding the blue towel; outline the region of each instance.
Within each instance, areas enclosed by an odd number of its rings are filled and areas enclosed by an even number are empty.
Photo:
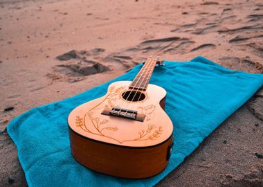
[[[116,78],[149,55],[203,55],[263,73],[263,3],[0,0],[0,130],[28,109]],[[157,186],[263,186],[262,106],[261,91]],[[6,132],[0,142],[0,186],[26,186]]]

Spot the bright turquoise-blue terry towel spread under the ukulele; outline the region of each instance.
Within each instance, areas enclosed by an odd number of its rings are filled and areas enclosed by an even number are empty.
[[[78,105],[105,95],[111,82],[132,80],[141,64],[78,96],[31,109],[8,125],[29,186],[153,186],[174,170],[206,136],[262,87],[263,75],[231,71],[204,57],[165,62],[150,83],[167,91],[165,111],[174,123],[170,163],[149,179],[109,177],[84,168],[71,157],[67,117]]]

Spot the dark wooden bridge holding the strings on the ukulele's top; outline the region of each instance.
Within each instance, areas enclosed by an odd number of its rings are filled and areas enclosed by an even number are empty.
[[[131,109],[123,109],[118,107],[113,107],[112,109],[104,109],[102,111],[103,115],[107,116],[117,116],[122,118],[128,118],[135,121],[144,121],[145,114],[138,114],[137,111]]]

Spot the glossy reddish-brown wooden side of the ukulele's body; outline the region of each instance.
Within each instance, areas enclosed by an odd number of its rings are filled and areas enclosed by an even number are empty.
[[[165,98],[161,100],[162,108]],[[95,141],[69,127],[71,152],[83,166],[107,175],[129,179],[152,177],[165,169],[173,137],[146,148],[131,148]]]

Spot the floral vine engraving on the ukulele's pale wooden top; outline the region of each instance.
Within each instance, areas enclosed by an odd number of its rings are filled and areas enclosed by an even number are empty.
[[[113,132],[118,131],[118,127],[111,127],[111,126],[107,126],[107,123],[109,122],[107,119],[100,119],[98,117],[93,117],[93,110],[96,109],[102,109],[102,108],[111,108],[113,107],[113,100],[116,100],[118,96],[120,96],[121,91],[125,89],[125,87],[119,87],[119,88],[115,88],[114,86],[109,88],[109,94],[105,97],[104,100],[102,100],[102,102],[98,103],[98,105],[96,105],[95,107],[89,109],[89,112],[87,112],[83,117],[80,116],[76,116],[75,118],[75,125],[77,127],[82,128],[82,130],[84,130],[85,132],[91,133],[91,134],[95,134],[98,136],[104,136],[107,137],[109,139],[113,139],[114,141],[117,141],[118,143],[124,143],[127,141],[147,141],[147,140],[155,140],[158,137],[161,136],[162,132],[163,132],[163,128],[161,126],[156,127],[153,124],[148,124],[147,128],[145,130],[141,130],[140,132],[138,132],[138,138],[136,139],[127,139],[127,140],[123,140],[120,141],[118,139],[115,139],[114,137],[111,136],[107,136],[104,131],[105,130],[110,130]],[[100,106],[102,103],[105,103],[105,101],[107,100],[107,104],[104,106]],[[140,109],[142,109],[142,113],[143,114],[147,114],[150,115],[152,114],[152,112],[154,112],[155,106],[154,105],[148,105],[147,107],[140,107]],[[89,125],[87,125],[85,123],[85,118],[89,118],[89,120],[91,121],[91,124],[89,124],[91,127],[89,127]],[[147,117],[147,121],[149,121],[149,116]]]

